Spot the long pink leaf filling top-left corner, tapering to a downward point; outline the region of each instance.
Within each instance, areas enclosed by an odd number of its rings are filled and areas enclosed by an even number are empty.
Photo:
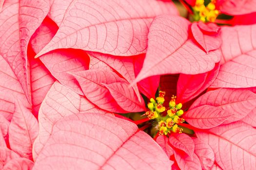
[[[0,13],[0,55],[18,78],[31,102],[27,70],[27,45],[49,10],[48,1],[6,0]]]

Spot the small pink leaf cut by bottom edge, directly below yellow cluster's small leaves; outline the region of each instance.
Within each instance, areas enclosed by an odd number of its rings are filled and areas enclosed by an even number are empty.
[[[200,160],[195,153],[193,158],[189,155],[174,150],[174,156],[180,170],[202,170]]]

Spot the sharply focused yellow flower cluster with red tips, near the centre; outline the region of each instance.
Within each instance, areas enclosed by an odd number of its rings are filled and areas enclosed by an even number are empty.
[[[178,123],[183,123],[184,119],[180,118],[183,115],[183,110],[181,109],[182,104],[176,104],[176,96],[173,96],[169,102],[169,108],[166,109],[163,106],[164,103],[164,91],[159,91],[159,96],[156,98],[156,101],[151,98],[148,103],[148,108],[150,111],[147,111],[145,115],[149,119],[156,119],[158,121],[158,132],[159,135],[168,135],[171,132],[182,133],[182,128],[178,127]],[[165,112],[167,110],[167,113]]]

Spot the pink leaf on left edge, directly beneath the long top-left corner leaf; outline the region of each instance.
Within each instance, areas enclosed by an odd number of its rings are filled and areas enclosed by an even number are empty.
[[[10,121],[15,111],[15,99],[27,108],[31,108],[31,105],[27,102],[18,78],[1,55],[0,66],[0,115]]]

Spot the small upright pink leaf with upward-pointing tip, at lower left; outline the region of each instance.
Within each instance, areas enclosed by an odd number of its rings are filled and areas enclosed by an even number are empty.
[[[18,101],[9,126],[10,148],[22,157],[32,160],[32,145],[38,136],[38,131],[37,119]]]

